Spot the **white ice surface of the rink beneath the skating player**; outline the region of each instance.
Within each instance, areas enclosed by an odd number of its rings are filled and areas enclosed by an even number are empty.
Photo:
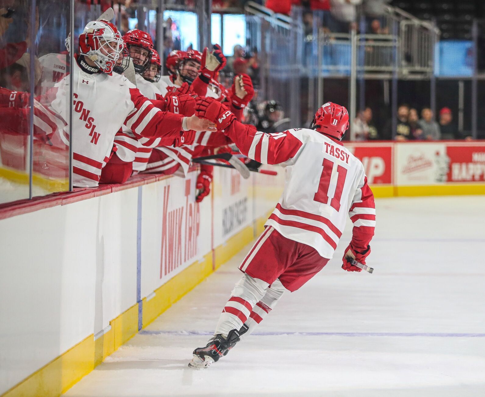
[[[485,396],[485,197],[378,199],[368,264],[335,258],[218,363],[205,345],[246,250],[66,396]]]

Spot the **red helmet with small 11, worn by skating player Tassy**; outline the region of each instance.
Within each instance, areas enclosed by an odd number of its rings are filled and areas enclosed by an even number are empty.
[[[327,102],[318,108],[310,128],[341,140],[349,128],[349,112],[344,106]]]

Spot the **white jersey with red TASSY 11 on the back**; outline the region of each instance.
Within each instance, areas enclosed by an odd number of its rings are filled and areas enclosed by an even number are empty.
[[[367,248],[375,227],[374,199],[362,163],[341,142],[301,128],[257,132],[237,121],[225,133],[249,158],[286,168],[283,197],[267,226],[331,259],[350,216],[353,244]]]

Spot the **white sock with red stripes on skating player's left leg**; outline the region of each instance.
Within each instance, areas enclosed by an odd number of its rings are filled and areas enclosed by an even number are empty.
[[[244,274],[232,290],[231,297],[219,317],[214,334],[221,333],[226,337],[229,331],[239,330],[249,318],[256,303],[265,295],[266,288],[268,288],[267,282]]]

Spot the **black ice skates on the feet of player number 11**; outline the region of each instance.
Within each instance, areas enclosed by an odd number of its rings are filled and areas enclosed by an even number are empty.
[[[227,338],[224,338],[220,333],[213,336],[205,347],[198,347],[194,350],[194,357],[189,366],[193,368],[207,368],[210,364],[225,356],[240,341],[240,336],[247,330],[247,325],[242,324],[239,331],[229,331]]]

